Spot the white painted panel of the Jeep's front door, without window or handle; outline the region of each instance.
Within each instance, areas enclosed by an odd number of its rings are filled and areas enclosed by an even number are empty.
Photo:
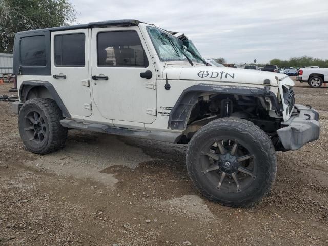
[[[100,67],[97,66],[97,34],[109,31],[136,31],[149,60],[148,67]],[[156,109],[156,90],[147,88],[147,84],[156,85],[156,70],[151,61],[145,41],[138,27],[96,28],[92,29],[91,73],[96,76],[108,76],[108,80],[92,80],[92,94],[95,106],[101,115],[114,120],[115,126],[128,126],[124,121],[135,122],[144,128],[144,123],[154,122],[156,115],[147,114],[147,110]],[[150,70],[151,79],[141,78],[140,73]]]

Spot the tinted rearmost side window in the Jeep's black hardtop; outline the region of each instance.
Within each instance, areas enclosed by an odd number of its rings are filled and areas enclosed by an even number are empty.
[[[46,66],[45,36],[23,37],[20,40],[20,63],[27,67]]]

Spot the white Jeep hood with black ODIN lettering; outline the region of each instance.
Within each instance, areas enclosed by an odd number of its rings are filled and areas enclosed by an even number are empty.
[[[294,81],[285,74],[241,68],[211,66],[167,67],[163,71],[164,78],[166,74],[170,80],[197,80],[202,82],[266,85],[264,84],[264,80],[269,79],[271,86],[278,86],[278,81],[282,80],[284,80],[283,84],[294,85]]]

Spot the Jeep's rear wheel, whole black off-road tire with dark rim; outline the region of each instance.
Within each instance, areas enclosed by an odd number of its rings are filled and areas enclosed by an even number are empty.
[[[39,118],[38,124],[35,124],[35,118]],[[18,115],[19,134],[26,148],[37,154],[47,154],[63,148],[67,139],[67,128],[60,125],[61,119],[64,117],[54,100],[27,100]]]

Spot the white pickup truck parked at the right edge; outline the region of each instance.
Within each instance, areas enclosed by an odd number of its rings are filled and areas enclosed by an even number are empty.
[[[308,82],[309,86],[319,88],[323,83],[328,82],[328,68],[300,68],[296,80]]]

